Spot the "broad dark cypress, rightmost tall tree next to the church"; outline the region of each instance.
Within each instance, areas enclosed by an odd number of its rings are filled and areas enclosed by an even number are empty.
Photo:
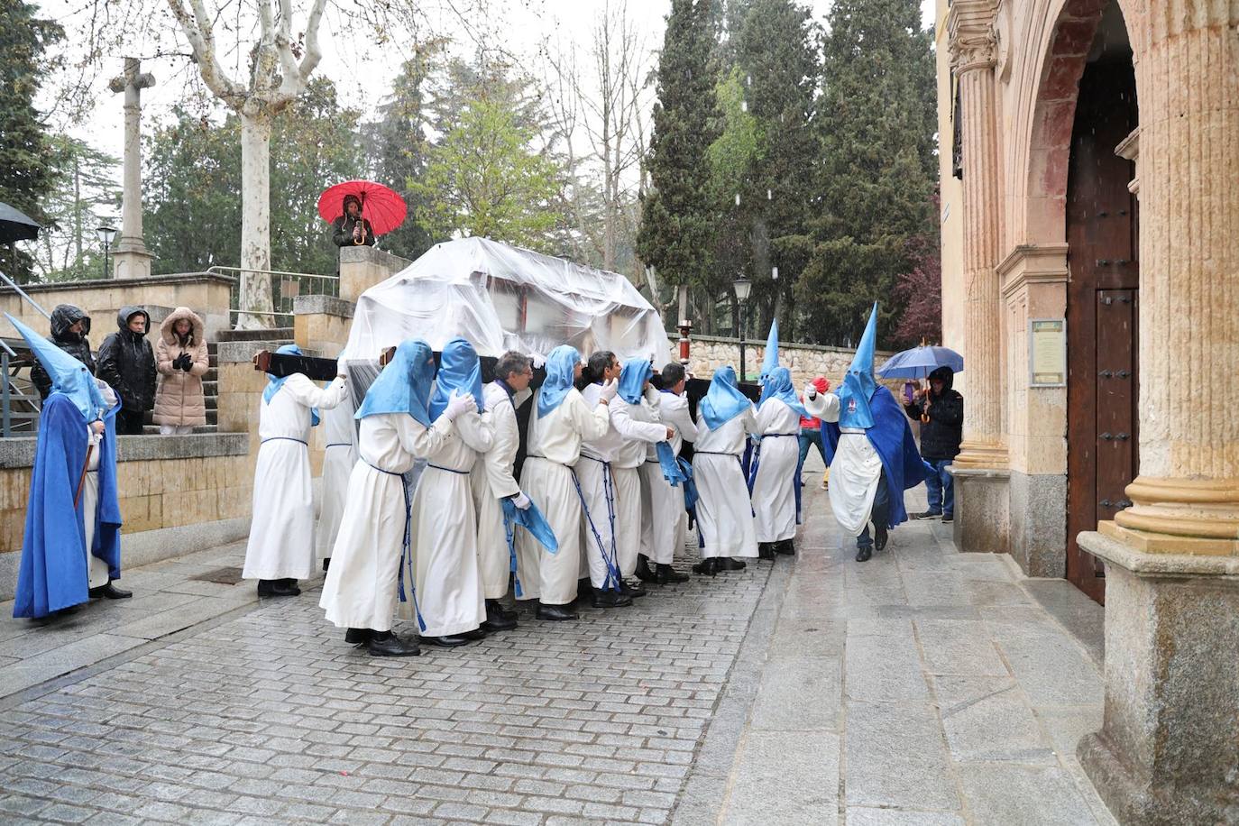
[[[918,244],[937,238],[932,32],[916,0],[835,0],[826,26],[820,217],[797,285],[802,338],[854,343],[880,300],[886,342],[902,315],[897,279],[914,269]]]

